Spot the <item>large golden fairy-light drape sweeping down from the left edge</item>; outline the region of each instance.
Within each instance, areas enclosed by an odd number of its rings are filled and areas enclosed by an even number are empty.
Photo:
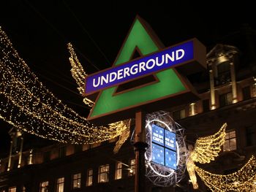
[[[123,122],[94,126],[64,105],[31,72],[1,28],[0,82],[0,118],[30,134],[91,144],[117,137],[127,129]]]

